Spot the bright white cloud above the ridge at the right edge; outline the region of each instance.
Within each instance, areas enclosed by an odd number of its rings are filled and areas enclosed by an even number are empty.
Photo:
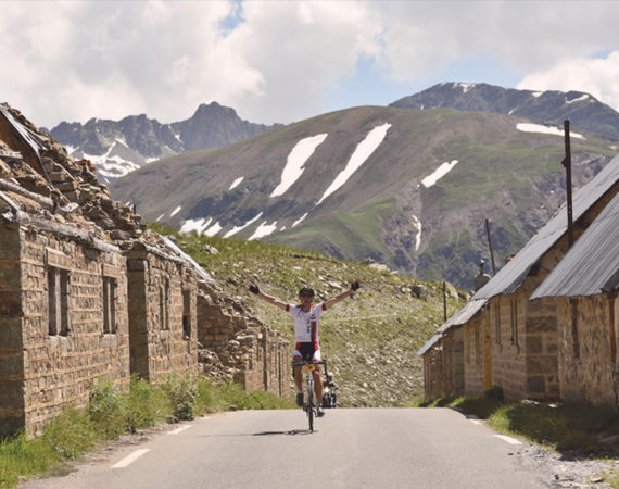
[[[619,51],[606,58],[577,58],[548,70],[527,75],[517,88],[529,90],[578,90],[619,109]]]

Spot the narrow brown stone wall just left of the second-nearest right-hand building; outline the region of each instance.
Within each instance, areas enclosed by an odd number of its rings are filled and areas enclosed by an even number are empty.
[[[489,316],[485,310],[479,311],[470,321],[463,326],[464,341],[464,378],[465,394],[480,396],[489,387],[484,383],[484,372],[490,359],[487,348],[489,331]],[[491,380],[489,380],[491,384]]]

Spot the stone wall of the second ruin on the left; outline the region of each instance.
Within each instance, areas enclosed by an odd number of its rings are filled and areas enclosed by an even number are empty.
[[[180,263],[153,252],[126,255],[131,374],[157,381],[172,372],[195,372],[195,278]]]

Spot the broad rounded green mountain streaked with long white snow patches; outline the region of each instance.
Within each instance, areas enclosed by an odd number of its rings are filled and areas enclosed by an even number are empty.
[[[577,129],[578,187],[617,147]],[[362,106],[167,158],[110,189],[186,233],[371,258],[470,288],[489,259],[485,218],[501,264],[565,200],[554,131],[503,114]]]

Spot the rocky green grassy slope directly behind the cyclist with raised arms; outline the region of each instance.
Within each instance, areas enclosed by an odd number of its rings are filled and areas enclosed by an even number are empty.
[[[289,315],[248,293],[244,287],[249,280],[256,280],[267,293],[294,302],[304,284],[316,289],[317,300],[326,300],[358,277],[364,284],[359,292],[321,318],[320,343],[340,386],[341,405],[401,405],[422,394],[422,363],[416,352],[443,322],[442,284],[419,283],[366,265],[257,241],[180,236],[178,242],[223,289],[243,296],[258,317],[291,342]],[[219,253],[200,251],[205,243]],[[427,301],[412,293],[415,284],[428,288]],[[453,314],[463,303],[450,298],[447,305],[449,314]]]

